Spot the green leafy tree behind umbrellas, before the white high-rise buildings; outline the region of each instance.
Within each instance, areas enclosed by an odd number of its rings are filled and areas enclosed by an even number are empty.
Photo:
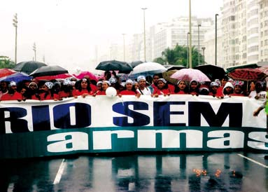
[[[198,65],[198,54],[197,48],[192,47],[192,67]],[[199,54],[199,59],[200,63],[203,63],[204,58],[201,54]],[[161,61],[159,63],[183,65],[188,67],[188,47],[178,46],[177,44],[174,49],[166,48],[162,52],[162,57],[157,57],[154,61]]]

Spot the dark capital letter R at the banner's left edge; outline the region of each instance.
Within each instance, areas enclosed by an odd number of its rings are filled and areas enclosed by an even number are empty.
[[[5,117],[5,112],[9,112],[9,117]],[[27,121],[20,119],[27,115],[27,110],[20,107],[7,107],[0,109],[0,133],[6,133],[6,122],[10,122],[12,132],[29,132]]]

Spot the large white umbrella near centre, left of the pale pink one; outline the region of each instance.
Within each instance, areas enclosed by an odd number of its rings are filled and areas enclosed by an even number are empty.
[[[162,64],[159,64],[157,62],[143,62],[134,67],[130,75],[135,76],[138,74],[153,75],[163,73],[164,71],[167,71],[167,69]]]

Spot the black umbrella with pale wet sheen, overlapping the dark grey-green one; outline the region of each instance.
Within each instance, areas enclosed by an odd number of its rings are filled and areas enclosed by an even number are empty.
[[[68,74],[68,71],[62,67],[59,67],[58,65],[51,65],[40,67],[29,74],[29,76],[55,76],[59,74]]]

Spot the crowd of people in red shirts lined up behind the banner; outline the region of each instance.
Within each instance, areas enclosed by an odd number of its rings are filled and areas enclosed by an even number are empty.
[[[244,81],[233,81],[227,76],[215,79],[211,82],[199,82],[195,79],[184,81],[179,79],[176,84],[170,83],[162,77],[162,74],[153,76],[138,76],[135,80],[122,80],[115,71],[105,71],[104,77],[99,81],[84,76],[82,79],[74,77],[66,78],[64,81],[14,81],[0,82],[0,100],[63,100],[66,97],[87,97],[106,95],[106,89],[113,87],[118,97],[122,95],[160,95],[171,94],[188,95],[210,95],[222,99],[224,97],[241,96],[254,97],[255,99],[266,98],[266,83],[252,81],[250,86]]]

